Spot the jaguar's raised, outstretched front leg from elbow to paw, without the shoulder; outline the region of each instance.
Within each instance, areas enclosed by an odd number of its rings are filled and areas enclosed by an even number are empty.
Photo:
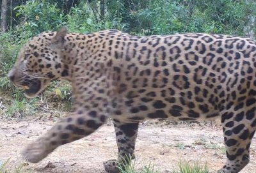
[[[106,119],[105,115],[90,116],[90,112],[72,113],[59,123],[56,123],[49,132],[35,142],[29,144],[22,152],[28,162],[37,163],[45,158],[58,146],[81,139],[93,133]]]

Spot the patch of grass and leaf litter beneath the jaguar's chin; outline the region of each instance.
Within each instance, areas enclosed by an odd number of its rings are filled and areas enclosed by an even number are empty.
[[[12,89],[12,91],[11,91]],[[0,77],[0,116],[24,118],[49,112],[69,112],[72,109],[71,86],[68,82],[54,81],[42,97],[26,98],[24,91],[15,87],[7,77]],[[40,102],[42,99],[43,102]],[[46,114],[47,115],[47,114]]]

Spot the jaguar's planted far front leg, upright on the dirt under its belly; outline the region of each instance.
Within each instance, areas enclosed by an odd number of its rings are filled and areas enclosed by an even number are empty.
[[[119,172],[116,163],[122,163],[128,161],[129,158],[135,158],[134,148],[139,126],[139,123],[121,123],[115,119],[113,122],[118,146],[118,160],[109,160],[103,163],[105,170],[109,173]]]

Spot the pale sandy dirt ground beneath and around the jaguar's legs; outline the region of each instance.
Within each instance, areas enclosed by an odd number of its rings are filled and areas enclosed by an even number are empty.
[[[10,158],[9,167],[21,162],[20,151],[44,134],[55,123],[52,119],[0,119],[0,161]],[[242,173],[256,172],[256,140],[251,161]],[[104,172],[102,162],[116,157],[114,128],[105,124],[97,132],[81,140],[58,147],[39,163],[28,163],[31,172]],[[172,124],[147,121],[140,125],[136,143],[138,169],[149,163],[158,172],[177,170],[179,161],[207,163],[214,172],[225,163],[221,127],[212,124]],[[51,162],[52,164],[48,164]]]

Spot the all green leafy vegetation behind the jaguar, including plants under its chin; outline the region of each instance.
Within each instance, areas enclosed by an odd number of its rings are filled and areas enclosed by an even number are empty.
[[[199,32],[244,36],[245,26],[256,19],[256,3],[234,0],[27,0],[9,4],[8,16],[9,27],[0,34],[0,93],[10,95],[10,100],[4,100],[8,102],[6,115],[23,117],[34,114],[38,104],[24,98],[6,76],[20,47],[42,31],[57,30],[65,25],[69,31],[79,33],[115,28],[137,35]],[[70,86],[59,83],[54,82],[45,92],[47,101],[56,103],[56,107],[60,107],[60,101],[65,102],[68,104],[65,107],[70,109]],[[33,111],[26,111],[29,109]]]

